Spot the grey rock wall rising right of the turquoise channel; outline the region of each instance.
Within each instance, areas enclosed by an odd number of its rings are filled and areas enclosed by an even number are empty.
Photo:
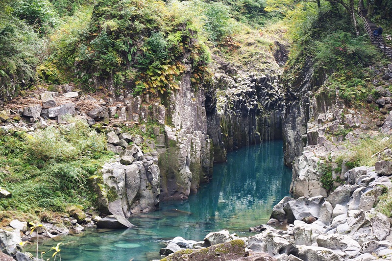
[[[385,68],[385,75],[391,70],[392,66],[391,69]],[[380,73],[376,70],[374,72]],[[321,182],[325,174],[321,169],[324,162],[331,165],[333,180],[346,180],[344,173],[347,170],[345,163],[349,155],[349,143],[344,141],[355,144],[361,137],[373,137],[380,132],[391,131],[391,119],[383,116],[392,110],[392,106],[388,105],[392,94],[386,88],[374,86],[381,97],[375,99],[369,95],[367,102],[370,106],[346,108],[338,91],[331,92],[318,87],[322,78],[316,79],[314,74],[308,62],[299,77],[285,82],[285,163],[293,167],[291,194],[294,198],[328,195],[329,191]],[[371,109],[376,106],[379,110]],[[339,155],[344,160],[338,165],[335,159]],[[340,169],[340,172],[335,169]]]

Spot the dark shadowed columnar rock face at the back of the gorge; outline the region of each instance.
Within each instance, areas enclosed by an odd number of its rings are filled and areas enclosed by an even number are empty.
[[[237,72],[215,57],[215,89],[206,94],[207,130],[215,162],[226,152],[282,138],[283,89],[275,76]],[[234,75],[235,74],[235,75]]]

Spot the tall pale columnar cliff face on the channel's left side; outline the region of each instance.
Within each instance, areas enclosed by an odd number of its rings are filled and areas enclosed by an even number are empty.
[[[212,174],[212,142],[207,135],[204,92],[192,90],[190,73],[181,79],[180,89],[167,108],[174,127],[165,126],[165,144],[157,147],[161,169],[161,196],[184,199],[196,192]]]

